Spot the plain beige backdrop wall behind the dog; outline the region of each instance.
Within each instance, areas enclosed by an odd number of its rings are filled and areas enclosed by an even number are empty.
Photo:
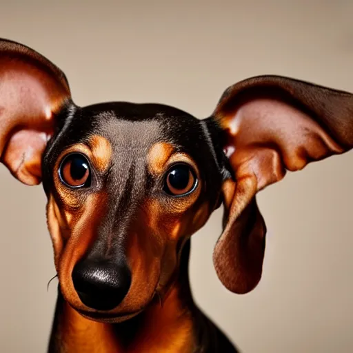
[[[353,91],[352,1],[3,1],[0,37],[67,74],[79,105],[153,101],[205,117],[228,85],[283,74]],[[242,352],[353,352],[353,154],[259,196],[261,284],[227,292],[212,268],[221,210],[194,237],[196,301]],[[0,352],[45,352],[56,285],[44,193],[0,166]]]

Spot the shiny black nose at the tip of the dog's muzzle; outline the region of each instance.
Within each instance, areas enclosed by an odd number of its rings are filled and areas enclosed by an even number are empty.
[[[84,260],[74,267],[72,281],[83,304],[96,310],[112,310],[128,294],[131,273],[126,265]]]

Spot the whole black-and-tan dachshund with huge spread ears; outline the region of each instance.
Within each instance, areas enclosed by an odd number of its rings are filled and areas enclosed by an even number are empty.
[[[48,198],[50,353],[237,352],[192,299],[192,234],[223,205],[216,274],[250,292],[265,252],[256,194],[352,146],[349,92],[268,75],[232,85],[205,119],[157,103],[79,107],[56,65],[0,40],[0,160]]]

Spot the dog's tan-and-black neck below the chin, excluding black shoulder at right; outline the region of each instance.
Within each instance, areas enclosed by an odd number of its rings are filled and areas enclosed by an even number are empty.
[[[165,294],[123,323],[85,319],[59,290],[49,352],[194,352],[194,312],[188,280],[190,241],[181,254],[179,274]]]

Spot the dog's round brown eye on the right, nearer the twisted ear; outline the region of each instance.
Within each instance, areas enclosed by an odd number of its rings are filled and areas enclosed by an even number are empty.
[[[172,196],[182,196],[192,192],[196,183],[194,171],[186,164],[177,164],[168,171],[164,190]]]

